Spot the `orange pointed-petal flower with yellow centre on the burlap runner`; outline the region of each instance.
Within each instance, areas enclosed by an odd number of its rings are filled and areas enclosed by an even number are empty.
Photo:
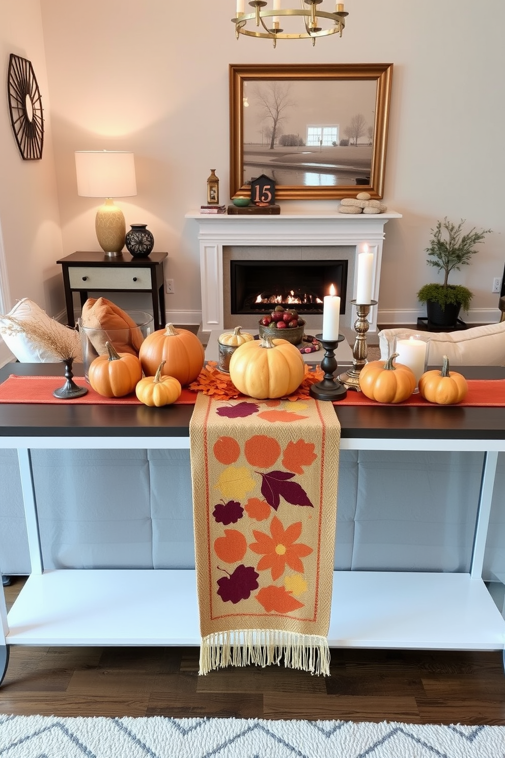
[[[259,553],[262,558],[257,565],[258,571],[264,571],[270,568],[272,571],[272,581],[279,579],[279,576],[285,571],[286,565],[293,571],[304,573],[304,564],[301,558],[310,556],[313,550],[303,542],[298,542],[301,535],[301,522],[291,524],[285,529],[277,516],[274,516],[270,522],[270,534],[263,531],[253,530],[256,542],[249,547],[254,553]]]

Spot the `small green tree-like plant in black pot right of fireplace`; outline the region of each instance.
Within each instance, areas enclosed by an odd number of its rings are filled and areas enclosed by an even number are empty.
[[[482,243],[491,229],[478,231],[472,227],[464,234],[464,224],[463,218],[459,224],[453,224],[446,216],[444,221],[437,221],[435,229],[432,229],[433,236],[426,248],[426,262],[437,271],[444,272],[444,282],[424,284],[417,293],[419,302],[426,302],[428,324],[454,328],[460,309],[468,311],[472,302],[473,293],[468,287],[449,284],[447,280],[451,271],[460,271],[461,266],[470,265],[472,255],[477,252],[475,245]]]

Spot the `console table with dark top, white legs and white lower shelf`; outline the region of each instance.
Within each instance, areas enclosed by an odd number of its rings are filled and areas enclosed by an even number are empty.
[[[459,370],[469,378],[505,377],[500,367]],[[59,374],[61,366],[10,364],[0,369],[0,382],[13,372]],[[194,571],[44,571],[42,565],[30,449],[189,448],[192,406],[143,411],[135,405],[0,404],[0,446],[18,451],[32,562],[8,614],[0,595],[0,681],[11,645],[200,644]],[[341,449],[484,456],[469,572],[335,572],[330,647],[503,650],[505,621],[482,581],[482,565],[497,456],[505,451],[505,408],[337,406],[336,412]]]

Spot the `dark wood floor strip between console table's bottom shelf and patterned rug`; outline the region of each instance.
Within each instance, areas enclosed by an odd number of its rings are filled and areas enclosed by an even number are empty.
[[[8,605],[23,579],[6,587]],[[0,713],[505,725],[499,652],[332,650],[329,678],[282,667],[198,676],[197,648],[11,647]]]

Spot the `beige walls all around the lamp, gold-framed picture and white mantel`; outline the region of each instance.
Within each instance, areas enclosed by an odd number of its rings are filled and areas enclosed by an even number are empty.
[[[445,215],[494,230],[454,282],[475,292],[467,321],[496,320],[491,280],[501,276],[505,260],[505,4],[482,0],[476,11],[475,0],[348,0],[346,8],[342,39],[320,39],[315,48],[303,40],[279,42],[274,50],[266,40],[235,40],[229,21],[235,0],[2,2],[0,21],[3,16],[10,29],[6,33],[0,23],[5,67],[11,50],[33,61],[48,130],[43,160],[25,165],[5,107],[0,114],[2,174],[4,160],[9,167],[8,186],[5,180],[0,186],[0,219],[11,296],[45,295],[33,272],[54,275],[57,203],[64,254],[97,249],[97,203],[76,195],[73,151],[129,149],[136,156],[139,194],[117,202],[127,224],[147,223],[156,249],[169,253],[167,276],[175,282],[175,294],[167,296],[169,316],[195,323],[197,228],[184,217],[206,202],[211,167],[220,177],[221,201],[229,201],[228,64],[392,62],[385,202],[403,218],[386,227],[379,321],[413,323],[424,315],[416,290],[436,280],[424,248],[430,228]],[[285,203],[308,209],[314,204]],[[335,208],[334,202],[316,205]],[[54,305],[47,298],[45,304]]]

